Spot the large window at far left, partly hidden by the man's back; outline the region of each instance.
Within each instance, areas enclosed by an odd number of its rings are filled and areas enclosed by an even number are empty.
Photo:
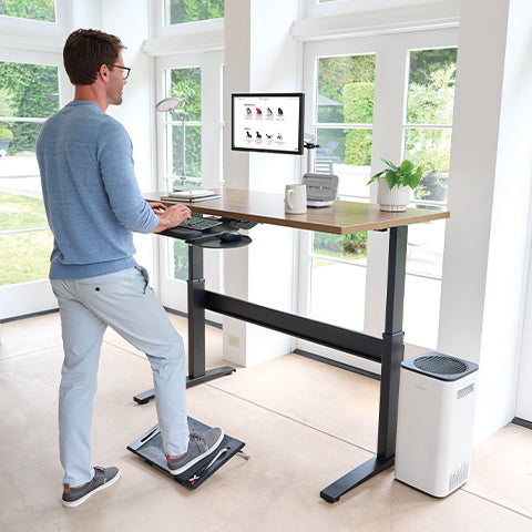
[[[48,277],[52,235],[34,146],[58,110],[55,66],[0,62],[0,286]]]

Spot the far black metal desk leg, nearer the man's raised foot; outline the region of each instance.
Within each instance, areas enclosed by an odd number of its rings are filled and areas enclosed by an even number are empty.
[[[201,385],[225,375],[235,368],[222,366],[205,370],[205,279],[203,278],[203,248],[188,246],[188,377],[186,387]],[[133,396],[139,405],[144,405],[155,397],[155,390],[143,391]]]

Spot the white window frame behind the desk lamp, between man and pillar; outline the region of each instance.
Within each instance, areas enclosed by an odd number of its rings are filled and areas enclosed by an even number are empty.
[[[164,72],[167,69],[201,69],[202,85],[202,185],[219,188],[223,186],[223,101],[222,101],[222,52],[197,52],[175,55],[163,55],[155,60],[156,72],[156,101],[166,98]],[[157,176],[158,190],[165,190],[165,134],[164,113],[157,113]],[[168,277],[168,250],[173,241],[158,238],[158,278],[160,293],[163,305],[177,311],[186,313],[186,283]],[[209,289],[223,289],[221,253],[205,250],[204,269],[206,285]],[[213,313],[207,313],[207,318],[219,321]]]

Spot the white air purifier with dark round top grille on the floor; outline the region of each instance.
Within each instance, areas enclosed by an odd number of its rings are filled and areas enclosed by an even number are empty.
[[[401,364],[397,480],[433,497],[468,481],[478,369],[436,351]]]

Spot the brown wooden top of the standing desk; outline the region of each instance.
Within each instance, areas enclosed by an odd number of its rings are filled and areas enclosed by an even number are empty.
[[[330,207],[307,208],[305,214],[286,214],[282,194],[224,188],[221,197],[187,203],[193,213],[225,216],[228,218],[282,225],[298,229],[348,235],[362,231],[387,229],[401,225],[419,224],[448,218],[447,211],[408,208],[405,213],[385,213],[378,205],[337,201]],[[162,192],[145,194],[146,200],[161,201]],[[162,202],[170,204],[168,202]]]

